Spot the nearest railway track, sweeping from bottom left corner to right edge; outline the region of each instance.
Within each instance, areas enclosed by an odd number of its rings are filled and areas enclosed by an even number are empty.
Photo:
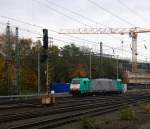
[[[107,113],[119,109],[124,103],[133,104],[140,101],[150,101],[150,96],[124,96],[124,97],[111,97],[105,96],[104,99],[99,99],[93,97],[93,100],[88,98],[85,99],[85,103],[74,103],[74,105],[69,103],[62,106],[55,107],[56,109],[49,110],[39,110],[35,113],[22,113],[14,114],[14,116],[1,117],[0,125],[2,129],[20,129],[20,128],[36,128],[36,129],[47,129],[60,126],[68,122],[73,122],[79,120],[81,116],[87,115],[94,116],[98,114]],[[81,99],[81,98],[80,98]],[[79,99],[79,100],[80,100]],[[120,100],[119,100],[120,99]],[[78,98],[77,98],[78,100]],[[91,101],[90,101],[91,100]],[[104,100],[104,101],[103,101]],[[107,100],[107,101],[106,101]],[[76,101],[77,102],[77,101]],[[89,103],[87,103],[89,102]],[[91,108],[92,107],[92,108]],[[35,110],[36,111],[36,110]],[[15,116],[16,115],[16,116]],[[8,122],[10,119],[14,118],[14,122]],[[18,120],[18,119],[21,120]],[[5,121],[4,121],[5,120]],[[7,121],[8,120],[8,121]]]

